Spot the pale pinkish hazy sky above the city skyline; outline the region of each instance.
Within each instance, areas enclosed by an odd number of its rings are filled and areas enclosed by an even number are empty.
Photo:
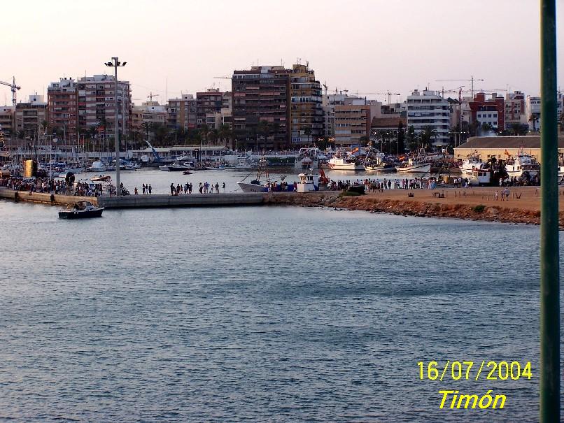
[[[557,1],[558,29],[564,0]],[[300,60],[329,92],[458,87],[540,92],[538,0],[27,0],[3,4],[0,80],[18,101],[62,77],[108,73],[132,84],[135,103],[230,89],[234,69]],[[562,31],[559,45],[564,45]],[[558,63],[563,64],[564,48]],[[449,81],[437,81],[449,80]],[[564,89],[564,66],[558,70]],[[453,92],[449,92],[453,89]],[[454,92],[456,90],[456,92]],[[0,104],[10,104],[0,85]]]

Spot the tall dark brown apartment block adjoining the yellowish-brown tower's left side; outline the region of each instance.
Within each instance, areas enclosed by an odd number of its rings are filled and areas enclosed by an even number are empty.
[[[290,146],[290,73],[283,66],[233,72],[232,120],[238,148]]]

